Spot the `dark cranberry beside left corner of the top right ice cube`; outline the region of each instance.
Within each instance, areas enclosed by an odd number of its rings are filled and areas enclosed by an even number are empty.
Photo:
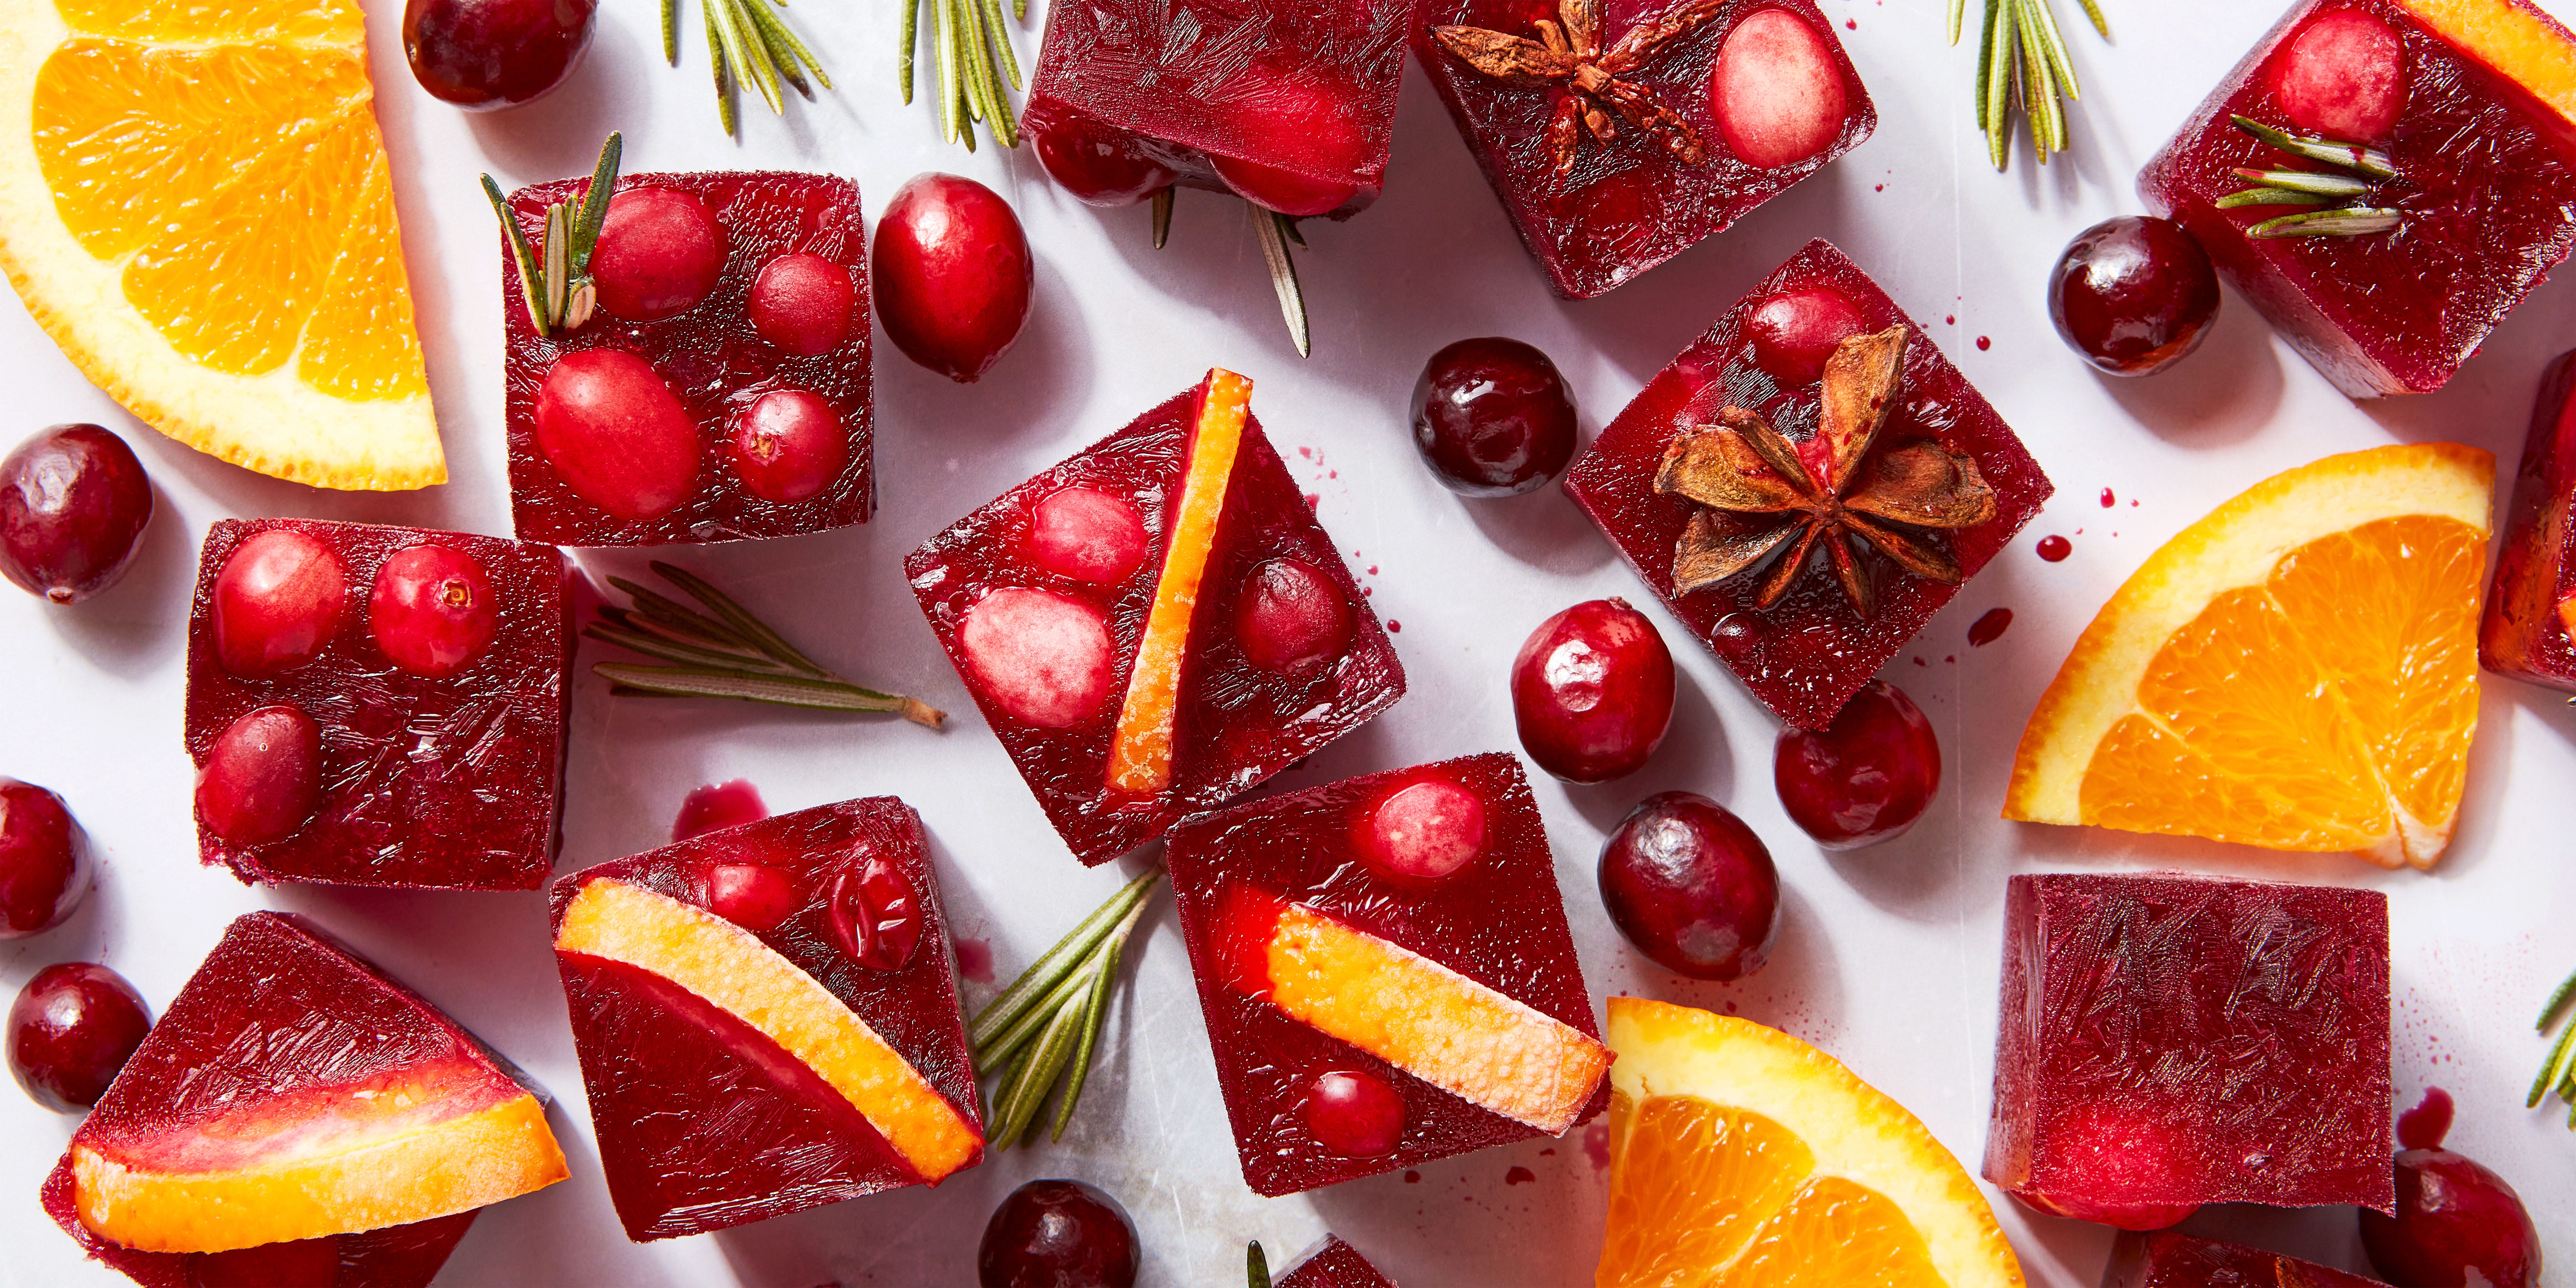
[[[2084,361],[2146,376],[2200,348],[2218,270],[2182,224],[2123,214],[2084,229],[2048,276],[2048,317]]]

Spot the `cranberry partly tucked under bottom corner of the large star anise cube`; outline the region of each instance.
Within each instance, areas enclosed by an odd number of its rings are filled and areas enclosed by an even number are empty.
[[[1940,739],[1914,698],[1870,680],[1824,729],[1780,729],[1772,781],[1790,822],[1826,850],[1896,840],[1940,791]]]

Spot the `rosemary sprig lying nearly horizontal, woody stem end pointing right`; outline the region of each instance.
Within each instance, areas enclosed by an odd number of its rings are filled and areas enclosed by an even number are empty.
[[[626,577],[611,577],[608,585],[634,598],[634,608],[600,608],[600,621],[585,626],[582,636],[670,665],[592,662],[590,672],[608,680],[608,693],[742,698],[814,711],[896,711],[930,729],[948,719],[945,711],[920,698],[878,693],[832,675],[706,580],[662,562],[654,562],[652,569],[706,611],[688,608]]]

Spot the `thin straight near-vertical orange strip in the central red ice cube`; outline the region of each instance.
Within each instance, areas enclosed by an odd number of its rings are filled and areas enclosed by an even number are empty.
[[[1154,611],[1144,618],[1136,644],[1136,670],[1128,675],[1126,706],[1110,737],[1110,786],[1118,791],[1162,791],[1172,786],[1172,721],[1180,716],[1180,665],[1190,654],[1190,616],[1198,608],[1198,580],[1216,549],[1216,523],[1226,513],[1234,484],[1234,456],[1252,415],[1252,381],[1226,368],[1208,371],[1208,397],[1198,402],[1198,430],[1190,435],[1190,464],[1182,471],[1180,505],[1172,507],[1172,541],[1164,544],[1162,580],[1154,582]]]

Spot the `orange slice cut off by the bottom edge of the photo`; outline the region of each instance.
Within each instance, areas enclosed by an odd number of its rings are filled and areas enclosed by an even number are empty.
[[[2020,1288],[1994,1208],[1904,1105],[1752,1020],[1610,999],[1597,1288]]]

